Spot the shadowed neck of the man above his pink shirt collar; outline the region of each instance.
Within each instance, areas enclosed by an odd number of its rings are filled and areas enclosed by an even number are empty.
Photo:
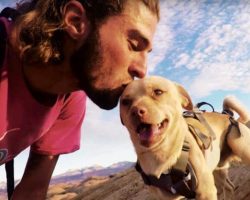
[[[33,97],[51,106],[58,95],[78,90],[78,81],[68,66],[64,63],[23,66],[23,77]]]

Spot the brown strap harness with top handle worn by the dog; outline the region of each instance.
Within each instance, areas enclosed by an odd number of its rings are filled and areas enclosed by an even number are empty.
[[[209,105],[212,108],[212,112],[215,112],[211,104],[201,102],[197,104],[192,111],[185,111],[183,117],[187,122],[189,131],[192,133],[197,144],[204,153],[204,150],[208,149],[212,141],[216,139],[216,135],[206,119],[202,116],[202,113],[206,112],[205,110],[200,110],[200,107],[203,105]],[[231,132],[233,126],[237,127],[239,130],[238,122],[233,118],[233,113],[231,111],[223,111],[222,114],[229,115],[230,120],[226,135]],[[135,168],[141,174],[146,185],[152,185],[172,194],[179,194],[188,199],[192,199],[195,198],[197,178],[192,166],[188,162],[189,150],[190,147],[188,142],[184,141],[182,152],[177,163],[171,170],[162,173],[160,178],[145,174],[139,162],[136,163]]]

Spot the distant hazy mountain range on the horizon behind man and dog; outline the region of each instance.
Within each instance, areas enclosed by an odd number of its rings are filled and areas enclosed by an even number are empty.
[[[92,176],[109,176],[129,169],[132,166],[134,166],[133,162],[119,162],[109,167],[95,165],[84,169],[70,170],[58,176],[53,176],[50,184],[84,181]]]

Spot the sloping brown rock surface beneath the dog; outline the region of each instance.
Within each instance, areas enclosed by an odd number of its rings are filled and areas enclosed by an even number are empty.
[[[235,199],[250,200],[250,167],[232,167],[230,178],[236,186]],[[84,182],[51,186],[47,199],[157,200],[149,193],[133,168],[112,176],[91,177]]]

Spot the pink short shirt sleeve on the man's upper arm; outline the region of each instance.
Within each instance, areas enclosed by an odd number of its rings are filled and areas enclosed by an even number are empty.
[[[46,134],[32,144],[31,150],[44,155],[66,154],[78,150],[85,110],[85,93],[72,92],[65,100],[55,123]]]

